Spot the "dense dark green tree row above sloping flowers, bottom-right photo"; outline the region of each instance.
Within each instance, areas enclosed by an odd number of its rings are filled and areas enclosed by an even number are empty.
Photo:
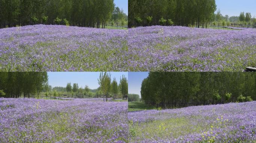
[[[256,100],[256,74],[247,72],[150,72],[141,84],[148,105],[181,108]]]

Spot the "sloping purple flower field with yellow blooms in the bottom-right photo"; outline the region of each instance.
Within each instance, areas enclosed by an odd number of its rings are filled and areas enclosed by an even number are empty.
[[[128,112],[132,143],[255,143],[256,101]]]

